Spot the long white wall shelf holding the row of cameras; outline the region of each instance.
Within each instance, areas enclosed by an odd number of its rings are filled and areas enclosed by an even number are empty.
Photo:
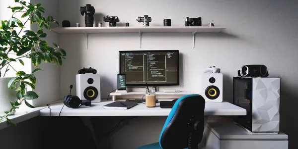
[[[225,27],[209,26],[147,26],[147,27],[58,27],[52,31],[58,34],[79,33],[219,33]]]

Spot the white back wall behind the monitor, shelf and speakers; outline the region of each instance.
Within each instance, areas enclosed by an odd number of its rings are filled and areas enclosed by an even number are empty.
[[[290,149],[298,145],[295,141],[298,116],[293,114],[297,113],[298,105],[297,0],[60,0],[60,21],[70,20],[72,26],[76,22],[84,26],[79,8],[86,3],[95,8],[96,24],[103,22],[104,15],[115,15],[120,18],[118,26],[125,26],[126,22],[142,26],[137,17],[149,15],[150,26],[162,26],[165,18],[172,19],[172,26],[184,26],[186,16],[200,16],[203,25],[214,22],[215,26],[226,27],[224,33],[197,34],[195,49],[190,34],[143,34],[141,50],[177,49],[182,53],[181,85],[160,90],[180,89],[200,94],[202,70],[215,65],[224,74],[224,100],[231,102],[232,77],[237,70],[243,64],[265,64],[270,76],[282,78],[281,130],[289,135]],[[118,51],[140,50],[138,34],[90,34],[89,49],[83,34],[60,35],[59,42],[68,52],[61,68],[60,98],[68,94],[70,84],[75,84],[78,69],[89,66],[101,75],[101,97],[106,98],[116,88]],[[139,140],[150,137],[141,134]]]

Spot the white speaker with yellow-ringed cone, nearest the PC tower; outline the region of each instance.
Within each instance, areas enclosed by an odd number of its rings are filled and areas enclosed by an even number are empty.
[[[222,102],[223,101],[223,74],[222,73],[203,73],[201,95],[206,102]]]

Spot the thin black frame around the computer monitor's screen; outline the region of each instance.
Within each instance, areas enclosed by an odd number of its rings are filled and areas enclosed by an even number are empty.
[[[126,53],[126,52],[177,52],[177,83],[166,83],[166,84],[160,84],[160,83],[155,83],[155,84],[148,84],[148,86],[178,86],[180,84],[180,65],[179,65],[179,50],[119,50],[119,73],[121,72],[121,53]],[[134,87],[134,86],[147,86],[146,83],[144,84],[128,84],[126,83],[126,86],[129,87]]]

